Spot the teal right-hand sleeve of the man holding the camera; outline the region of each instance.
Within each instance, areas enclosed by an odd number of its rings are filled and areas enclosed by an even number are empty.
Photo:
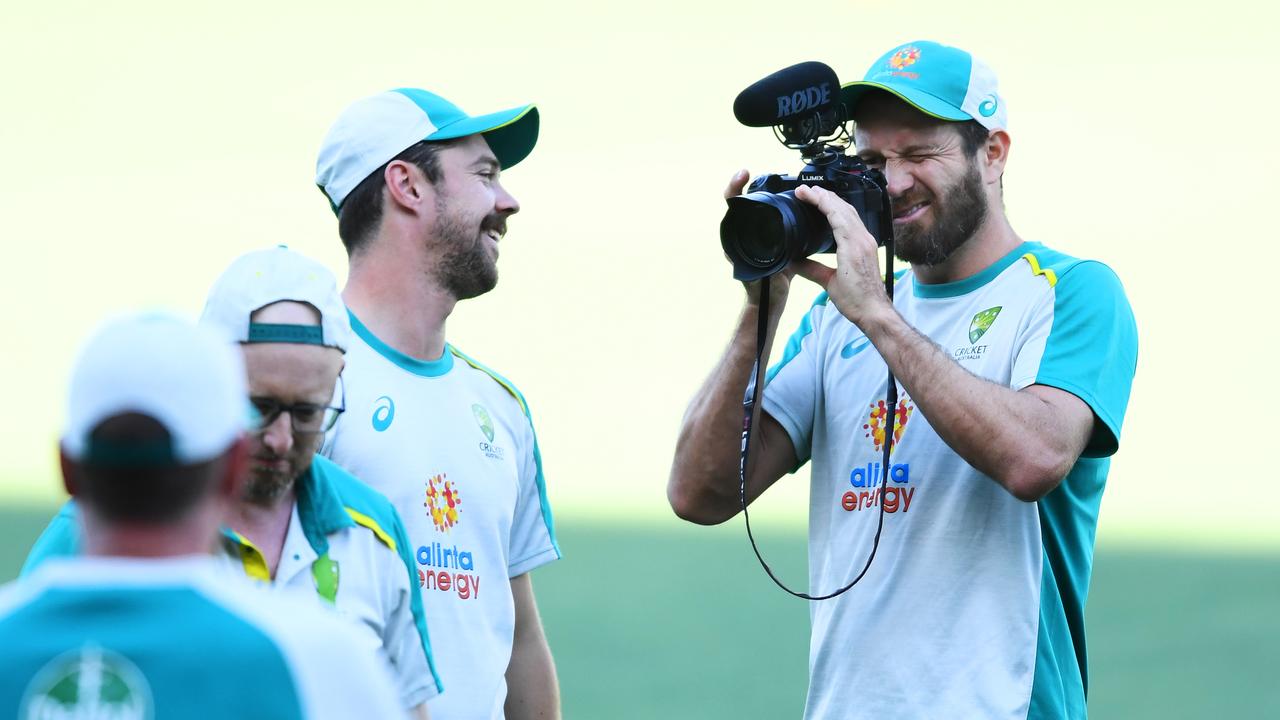
[[[1120,278],[1093,260],[1076,260],[1042,246],[1032,252],[1043,274],[1053,273],[1053,325],[1036,374],[1038,384],[1065,389],[1093,410],[1100,423],[1084,455],[1106,457],[1120,447],[1120,428],[1138,365],[1138,325]]]

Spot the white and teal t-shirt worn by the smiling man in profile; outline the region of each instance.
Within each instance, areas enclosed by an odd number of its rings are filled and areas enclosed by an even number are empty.
[[[347,411],[323,454],[390,498],[408,530],[444,685],[433,717],[502,717],[509,580],[561,556],[527,406],[452,346],[421,361],[351,322]]]

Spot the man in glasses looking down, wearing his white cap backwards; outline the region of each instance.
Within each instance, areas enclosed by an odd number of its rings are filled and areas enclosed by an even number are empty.
[[[333,274],[285,247],[250,252],[214,283],[201,325],[239,343],[257,411],[250,478],[220,557],[356,623],[394,670],[403,706],[425,716],[440,687],[403,524],[385,497],[316,455],[343,410],[338,378],[351,343]],[[73,512],[68,505],[55,519],[28,568],[74,547]]]

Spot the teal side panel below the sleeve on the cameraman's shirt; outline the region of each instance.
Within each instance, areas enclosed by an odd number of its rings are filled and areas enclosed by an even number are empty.
[[[1053,492],[1037,502],[1043,574],[1032,717],[1084,717],[1089,688],[1084,602],[1110,465],[1106,457],[1082,457]]]

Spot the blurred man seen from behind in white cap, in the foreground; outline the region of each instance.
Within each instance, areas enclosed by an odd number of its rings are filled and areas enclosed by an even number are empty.
[[[83,553],[0,591],[0,715],[403,716],[348,623],[209,555],[246,478],[244,397],[234,347],[173,316],[118,319],[84,346],[61,439]]]

